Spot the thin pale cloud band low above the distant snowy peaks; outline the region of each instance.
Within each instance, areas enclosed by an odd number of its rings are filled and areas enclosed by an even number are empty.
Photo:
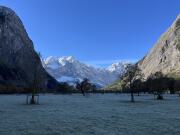
[[[95,67],[100,67],[100,68],[106,68],[113,63],[117,62],[123,62],[123,63],[136,63],[138,59],[119,59],[119,60],[93,60],[93,61],[86,61],[86,64],[95,66]]]

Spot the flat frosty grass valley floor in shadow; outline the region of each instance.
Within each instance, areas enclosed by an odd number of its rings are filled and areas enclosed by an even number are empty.
[[[0,95],[0,135],[179,135],[180,97],[126,94]]]

